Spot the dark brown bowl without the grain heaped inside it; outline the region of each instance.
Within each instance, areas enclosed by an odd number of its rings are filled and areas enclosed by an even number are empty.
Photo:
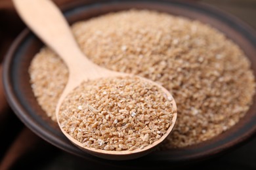
[[[170,14],[185,16],[200,20],[222,31],[227,37],[236,42],[251,61],[251,69],[256,75],[256,34],[248,25],[234,16],[230,16],[220,10],[213,9],[197,3],[184,3],[181,1],[102,1],[97,3],[79,1],[64,10],[70,24],[79,20],[86,20],[93,16],[127,9],[153,9]],[[3,82],[7,99],[17,116],[37,135],[54,144],[62,150],[100,163],[109,163],[101,160],[75,147],[61,133],[57,124],[48,118],[37,104],[30,87],[28,67],[33,56],[39,52],[43,43],[33,35],[29,29],[25,29],[12,44],[4,63]],[[236,124],[221,135],[193,146],[156,151],[139,160],[116,161],[119,165],[135,166],[140,163],[144,167],[164,165],[165,163],[188,163],[204,160],[224,153],[238,144],[242,144],[256,132],[256,97],[247,114]],[[113,161],[112,161],[113,162]]]

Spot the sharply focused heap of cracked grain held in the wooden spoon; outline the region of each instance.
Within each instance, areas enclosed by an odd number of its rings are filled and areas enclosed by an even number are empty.
[[[135,150],[160,139],[176,109],[163,91],[137,77],[83,82],[60,107],[66,133],[89,148]]]

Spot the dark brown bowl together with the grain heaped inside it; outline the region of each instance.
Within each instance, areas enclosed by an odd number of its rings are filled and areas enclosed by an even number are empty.
[[[117,164],[204,160],[255,134],[256,36],[244,22],[177,1],[81,1],[64,14],[91,61],[158,82],[177,103],[177,122],[165,143],[139,160]],[[7,54],[3,80],[12,109],[37,135],[87,160],[108,163],[61,133],[54,110],[68,69],[28,29]]]

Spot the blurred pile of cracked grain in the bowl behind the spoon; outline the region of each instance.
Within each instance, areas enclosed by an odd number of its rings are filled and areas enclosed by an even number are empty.
[[[107,14],[72,26],[79,46],[93,62],[114,71],[159,82],[175,97],[178,118],[163,148],[211,139],[242,118],[255,82],[244,52],[209,25],[148,10]],[[54,109],[68,71],[48,48],[30,67],[41,107]]]

